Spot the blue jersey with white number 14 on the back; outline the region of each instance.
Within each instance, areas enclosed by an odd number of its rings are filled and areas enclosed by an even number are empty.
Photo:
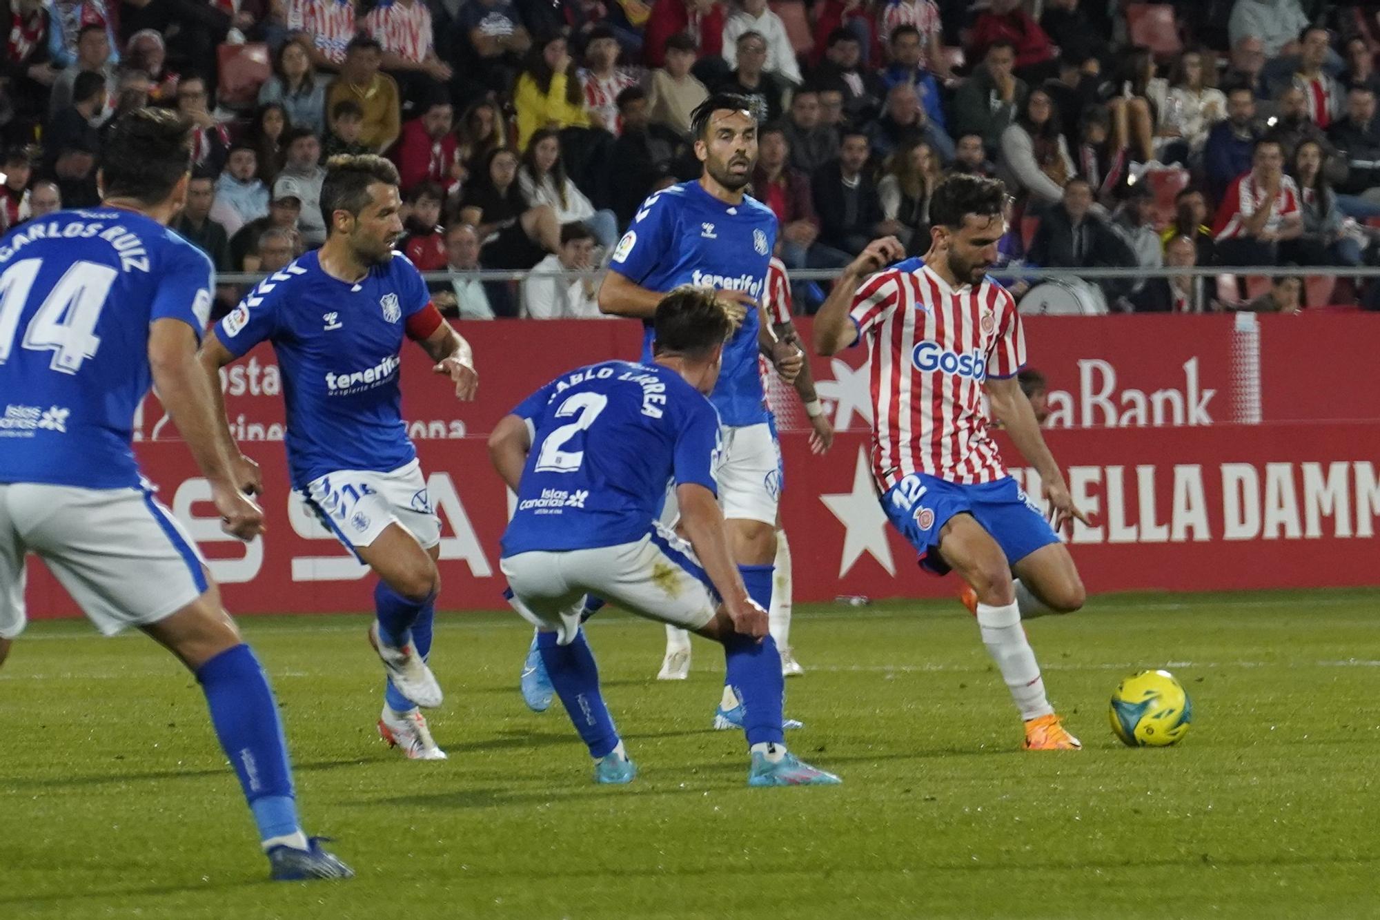
[[[130,441],[149,392],[149,326],[197,340],[214,268],[135,211],[58,211],[0,239],[0,482],[139,485]]]

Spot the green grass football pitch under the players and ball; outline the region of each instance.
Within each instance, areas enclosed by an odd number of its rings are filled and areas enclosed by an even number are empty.
[[[374,734],[363,616],[246,617],[276,687],[308,830],[348,883],[265,881],[203,699],[139,635],[40,623],[0,670],[0,917],[1380,916],[1380,593],[1127,595],[1031,622],[1081,753],[1018,750],[956,604],[796,613],[806,722],[840,787],[749,790],[709,731],[722,655],[653,678],[657,624],[589,635],[642,776],[598,787],[560,710],[516,692],[529,630],[446,615],[432,716],[446,763]],[[1130,750],[1107,702],[1169,666],[1187,739]]]

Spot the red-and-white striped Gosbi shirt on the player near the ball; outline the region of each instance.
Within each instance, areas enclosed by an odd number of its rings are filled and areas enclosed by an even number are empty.
[[[974,485],[1007,475],[987,430],[983,381],[1025,363],[1016,298],[984,279],[952,289],[929,267],[868,278],[853,298],[872,384],[872,475]]]

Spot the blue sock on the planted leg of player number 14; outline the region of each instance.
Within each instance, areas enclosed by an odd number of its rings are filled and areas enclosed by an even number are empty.
[[[293,768],[268,677],[248,645],[229,648],[196,670],[215,736],[235,767],[259,840],[297,833]]]

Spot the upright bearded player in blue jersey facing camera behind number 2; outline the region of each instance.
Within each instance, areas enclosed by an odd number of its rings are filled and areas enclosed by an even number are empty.
[[[748,593],[769,608],[781,461],[762,399],[758,355],[767,355],[787,380],[799,373],[803,355],[795,345],[777,341],[771,323],[759,315],[777,220],[771,209],[744,192],[758,159],[752,108],[744,97],[715,94],[694,111],[694,149],[704,171],[698,180],[662,189],[642,204],[614,249],[611,271],[599,290],[599,308],[643,320],[646,363],[651,361],[650,320],[665,291],[682,285],[713,287],[737,307],[742,320],[724,345],[723,373],[709,395],[724,425],[719,500],[729,522],[729,547]],[[675,642],[678,635],[668,630],[668,641]],[[668,658],[673,651],[668,649]],[[535,641],[523,669],[523,698],[534,709],[542,709],[542,699],[549,700]],[[726,684],[716,724],[738,724],[741,711],[731,682]]]

